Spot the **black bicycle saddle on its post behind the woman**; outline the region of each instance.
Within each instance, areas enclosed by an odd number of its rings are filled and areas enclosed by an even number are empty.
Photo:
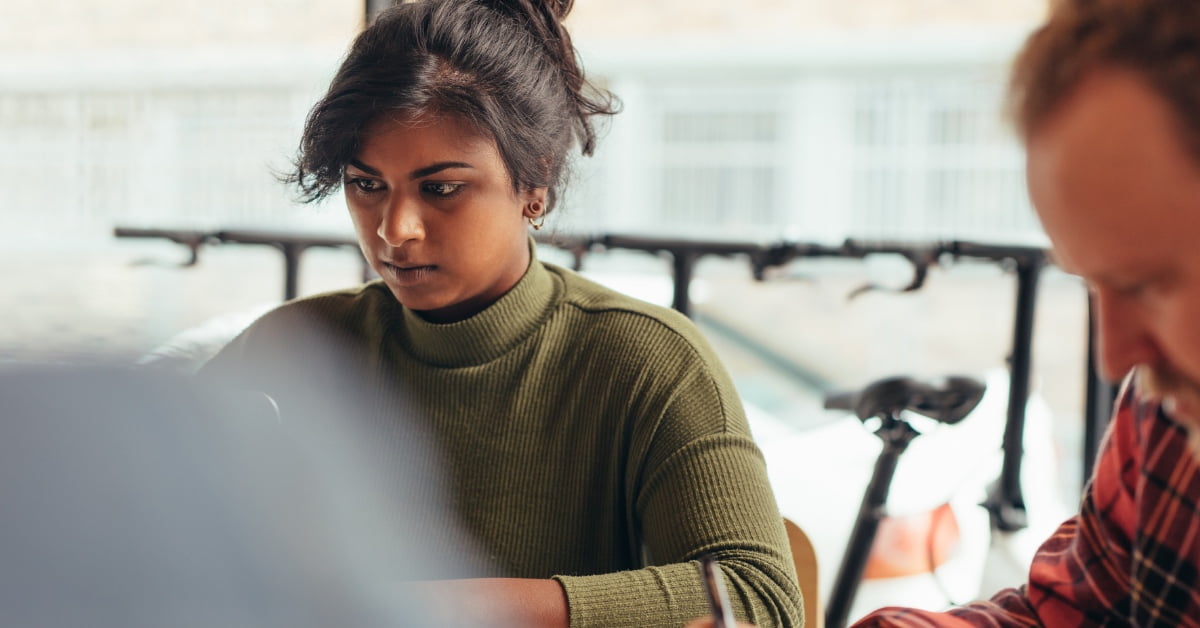
[[[985,388],[983,382],[964,376],[930,382],[918,382],[911,377],[886,377],[871,382],[862,390],[828,395],[824,407],[852,411],[859,420],[890,417],[907,409],[953,425],[979,405]]]

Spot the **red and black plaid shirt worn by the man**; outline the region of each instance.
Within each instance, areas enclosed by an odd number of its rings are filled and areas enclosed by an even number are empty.
[[[1126,385],[1080,513],[1030,581],[948,612],[889,608],[858,626],[1200,626],[1200,471],[1187,431]]]

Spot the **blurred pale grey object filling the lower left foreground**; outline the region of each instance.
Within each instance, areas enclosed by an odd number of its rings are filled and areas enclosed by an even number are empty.
[[[376,466],[353,402],[284,421],[260,393],[100,365],[2,366],[0,399],[5,624],[449,626],[403,587],[470,564],[412,542],[454,530],[427,455]]]

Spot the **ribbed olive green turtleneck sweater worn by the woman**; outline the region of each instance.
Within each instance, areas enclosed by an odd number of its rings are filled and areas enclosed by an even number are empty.
[[[313,351],[298,321],[334,330],[348,355]],[[739,618],[803,623],[762,454],[682,315],[534,261],[496,304],[451,324],[406,310],[382,282],[286,304],[204,371],[287,397],[270,389],[282,384],[260,366],[266,354],[310,394],[335,379],[364,387],[384,447],[415,417],[490,575],[556,579],[571,626],[706,616],[706,552]]]

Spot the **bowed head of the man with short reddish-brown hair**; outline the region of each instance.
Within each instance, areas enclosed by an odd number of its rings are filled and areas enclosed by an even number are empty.
[[[1200,433],[1200,2],[1062,0],[1013,72],[1030,195],[1134,366]]]

